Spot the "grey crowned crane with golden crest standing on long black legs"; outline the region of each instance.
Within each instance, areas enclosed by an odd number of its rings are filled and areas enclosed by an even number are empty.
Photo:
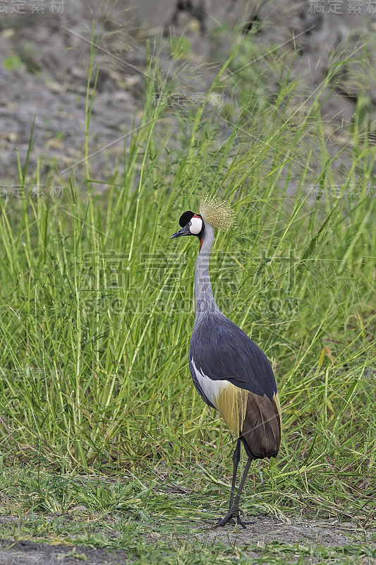
[[[214,526],[235,523],[245,528],[239,510],[239,500],[253,459],[275,457],[281,442],[281,407],[272,367],[248,335],[231,322],[217,307],[209,275],[209,254],[214,239],[214,227],[231,227],[231,208],[205,196],[200,214],[191,211],[181,215],[181,230],[171,239],[195,235],[200,251],[195,267],[195,325],[190,340],[189,367],[193,383],[202,400],[219,410],[227,426],[237,436],[232,457],[234,472],[231,483],[229,511]],[[243,476],[235,494],[236,473],[241,444],[248,456]]]

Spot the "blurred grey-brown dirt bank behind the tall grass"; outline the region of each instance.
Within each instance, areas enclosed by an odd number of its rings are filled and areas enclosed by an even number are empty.
[[[189,63],[190,72],[180,73],[179,80],[184,81],[187,74],[199,76],[194,88],[203,92],[220,61],[229,55],[234,25],[244,33],[257,25],[260,30],[255,41],[265,52],[270,44],[279,43],[291,50],[293,60],[293,50],[299,49],[291,76],[302,77],[305,86],[314,89],[326,76],[328,59],[336,49],[337,57],[343,59],[348,49],[373,37],[376,28],[376,13],[369,13],[365,6],[361,13],[344,9],[333,14],[327,8],[318,13],[312,8],[315,3],[307,1],[124,0],[90,6],[82,0],[69,0],[51,2],[55,6],[52,10],[49,4],[45,2],[44,11],[35,13],[29,3],[16,11],[8,1],[7,11],[2,8],[0,12],[0,184],[18,179],[17,150],[24,164],[33,119],[30,174],[35,172],[37,160],[40,183],[54,167],[63,179],[68,174],[85,174],[80,161],[85,155],[85,96],[93,23],[99,78],[88,140],[90,153],[101,150],[92,159],[90,171],[92,178],[99,179],[113,174],[116,160],[121,172],[123,145],[140,121],[147,42],[151,52],[159,54],[162,75],[172,76],[179,64]],[[172,61],[170,40],[181,34],[188,39],[190,51],[182,61]],[[202,64],[209,66],[205,72],[196,72]],[[360,81],[353,78],[354,67],[349,64],[327,91],[322,110],[339,132],[351,119],[358,100]],[[365,75],[361,81],[371,114],[376,107],[372,81]],[[226,95],[231,97],[231,90]],[[108,150],[103,150],[109,144]]]

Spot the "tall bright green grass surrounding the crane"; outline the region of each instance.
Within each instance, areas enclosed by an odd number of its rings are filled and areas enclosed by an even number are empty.
[[[329,154],[320,118],[329,77],[296,106],[297,85],[282,71],[277,94],[255,113],[255,93],[248,100],[243,79],[234,82],[239,52],[211,91],[223,83],[235,95],[240,89],[240,109],[214,111],[210,92],[207,104],[166,107],[181,79],[167,83],[151,61],[156,80],[145,85],[124,173],[91,177],[95,100],[88,90],[85,182],[58,170],[43,197],[26,190],[25,198],[0,200],[0,446],[2,491],[13,492],[8,511],[64,514],[84,504],[101,520],[109,513],[111,524],[121,516],[119,535],[128,540],[121,547],[134,538],[135,559],[137,536],[150,524],[163,520],[161,535],[180,523],[188,533],[195,519],[209,527],[229,496],[234,441],[194,391],[188,369],[198,246],[191,238],[169,240],[181,212],[198,209],[202,191],[234,204],[234,230],[217,234],[212,249],[214,296],[271,360],[284,415],[279,457],[254,463],[243,509],[375,525],[374,148],[354,120],[351,142]],[[167,95],[158,105],[157,84]],[[28,160],[20,163],[20,183],[45,184],[40,175],[28,170]],[[308,198],[312,186],[321,198]],[[123,477],[124,469],[124,482],[74,479]],[[159,489],[171,477],[188,493],[181,504]],[[21,504],[20,492],[30,502]],[[87,524],[77,528],[78,539],[91,543]],[[192,557],[179,557],[181,563],[207,562],[212,551],[205,545],[198,557],[193,542],[176,543],[171,559],[179,552]],[[265,562],[285,563],[289,548],[274,547],[269,557],[276,560]],[[217,562],[233,562],[234,552],[226,551]],[[296,547],[291,562],[303,562],[309,551]]]

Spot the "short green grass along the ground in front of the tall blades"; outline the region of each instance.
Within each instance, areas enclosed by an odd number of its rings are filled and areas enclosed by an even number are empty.
[[[375,534],[366,535],[353,523],[344,524],[346,545],[331,547],[318,536],[315,543],[305,541],[309,530],[304,526],[301,541],[295,543],[262,542],[232,528],[223,537],[214,537],[211,525],[218,517],[223,491],[208,487],[200,470],[188,476],[180,470],[145,472],[144,468],[111,478],[38,476],[28,467],[3,472],[1,478],[1,491],[6,492],[3,513],[11,515],[2,521],[1,537],[11,542],[49,542],[71,546],[77,554],[81,546],[122,550],[135,564],[154,563],[161,557],[166,563],[187,565],[230,564],[234,559],[247,564],[301,564],[316,559],[335,565],[351,564],[354,558],[369,564],[376,555]],[[260,518],[262,523],[265,518]],[[308,528],[315,521],[303,523]]]

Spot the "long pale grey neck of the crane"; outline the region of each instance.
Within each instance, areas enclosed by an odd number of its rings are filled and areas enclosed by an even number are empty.
[[[195,268],[196,320],[202,316],[202,314],[210,314],[211,312],[219,311],[213,297],[209,275],[209,255],[213,239],[214,230],[212,225],[205,224],[202,246],[198,254]]]

